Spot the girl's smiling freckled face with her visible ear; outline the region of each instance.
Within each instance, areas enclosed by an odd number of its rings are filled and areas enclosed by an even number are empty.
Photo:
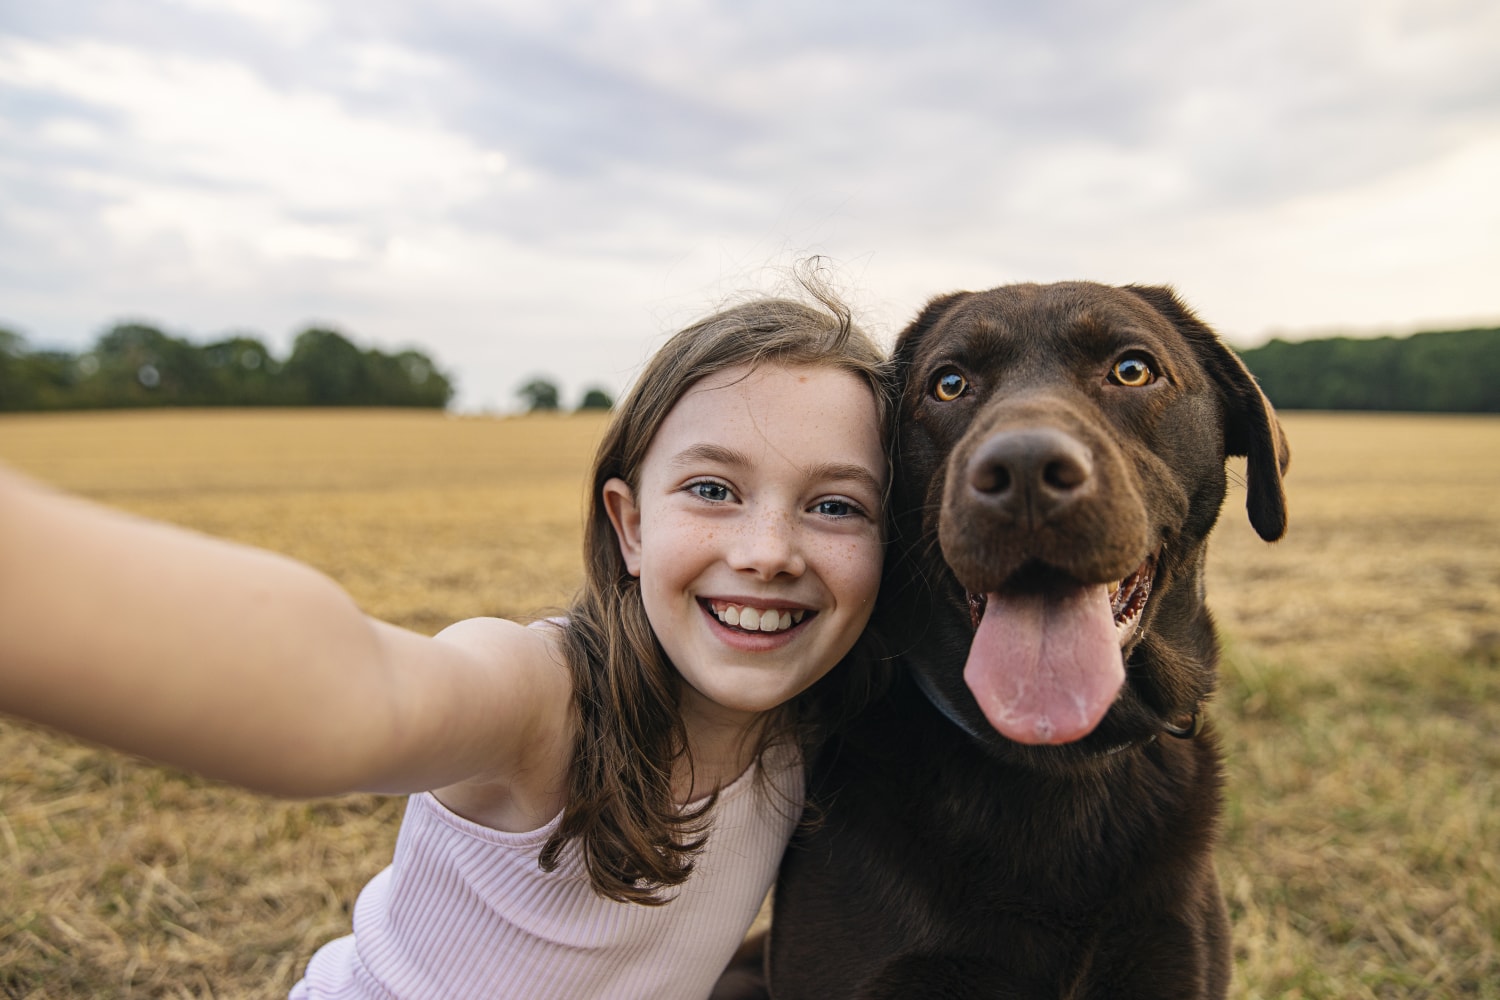
[[[832,367],[711,375],[604,504],[684,718],[746,724],[822,678],[874,607],[886,483],[870,388]]]

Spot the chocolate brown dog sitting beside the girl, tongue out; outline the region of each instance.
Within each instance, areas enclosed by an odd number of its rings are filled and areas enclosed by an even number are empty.
[[[900,679],[812,768],[772,996],[1222,997],[1203,562],[1227,456],[1286,529],[1270,406],[1166,288],[945,295],[896,363]]]

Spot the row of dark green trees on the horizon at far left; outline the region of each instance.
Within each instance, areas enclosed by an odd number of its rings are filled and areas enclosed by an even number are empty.
[[[453,384],[420,351],[362,349],[309,328],[276,358],[250,336],[195,345],[118,324],[82,354],[30,351],[0,330],[0,411],[118,406],[447,406]]]

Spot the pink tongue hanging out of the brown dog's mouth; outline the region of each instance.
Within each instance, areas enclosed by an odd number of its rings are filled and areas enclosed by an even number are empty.
[[[1108,588],[988,594],[963,679],[990,724],[1018,744],[1088,736],[1125,682]]]

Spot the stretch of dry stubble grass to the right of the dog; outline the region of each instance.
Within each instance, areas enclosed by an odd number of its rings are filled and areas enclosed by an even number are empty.
[[[1500,420],[1286,424],[1287,538],[1209,564],[1234,993],[1500,997]]]

